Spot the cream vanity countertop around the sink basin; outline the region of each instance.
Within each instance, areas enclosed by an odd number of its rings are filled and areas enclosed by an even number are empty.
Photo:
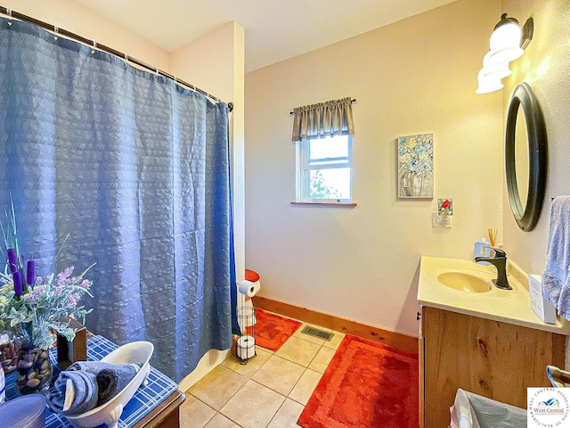
[[[557,324],[542,322],[530,307],[527,288],[515,276],[508,276],[513,291],[502,291],[493,285],[490,292],[464,292],[439,283],[436,276],[443,272],[473,273],[489,280],[496,278],[496,270],[491,265],[483,266],[464,259],[422,256],[418,285],[420,305],[570,335],[570,322],[565,318],[558,317]]]

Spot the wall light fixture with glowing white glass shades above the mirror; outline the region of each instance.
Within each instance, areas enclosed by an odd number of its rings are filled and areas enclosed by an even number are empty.
[[[476,94],[488,94],[503,87],[501,78],[512,73],[509,62],[515,61],[525,53],[526,46],[533,39],[534,21],[529,18],[521,29],[515,18],[507,13],[501,15],[501,21],[495,25],[489,39],[489,52],[483,58],[483,68],[477,75]]]

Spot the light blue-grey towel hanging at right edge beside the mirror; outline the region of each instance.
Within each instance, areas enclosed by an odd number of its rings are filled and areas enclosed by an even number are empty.
[[[542,273],[542,296],[550,300],[561,317],[570,319],[570,196],[554,198],[550,207],[546,267]]]

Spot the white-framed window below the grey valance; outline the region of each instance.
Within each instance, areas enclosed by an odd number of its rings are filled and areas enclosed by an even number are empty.
[[[352,136],[297,143],[297,202],[352,202]]]

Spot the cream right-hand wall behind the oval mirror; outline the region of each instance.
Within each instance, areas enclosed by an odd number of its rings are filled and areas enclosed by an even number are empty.
[[[523,25],[533,17],[533,41],[522,58],[511,62],[513,74],[504,79],[503,119],[515,87],[528,83],[541,106],[548,138],[547,190],[542,214],[531,232],[521,231],[503,190],[505,251],[527,273],[542,274],[550,223],[550,198],[570,195],[570,13],[567,0],[503,0],[502,12]]]

